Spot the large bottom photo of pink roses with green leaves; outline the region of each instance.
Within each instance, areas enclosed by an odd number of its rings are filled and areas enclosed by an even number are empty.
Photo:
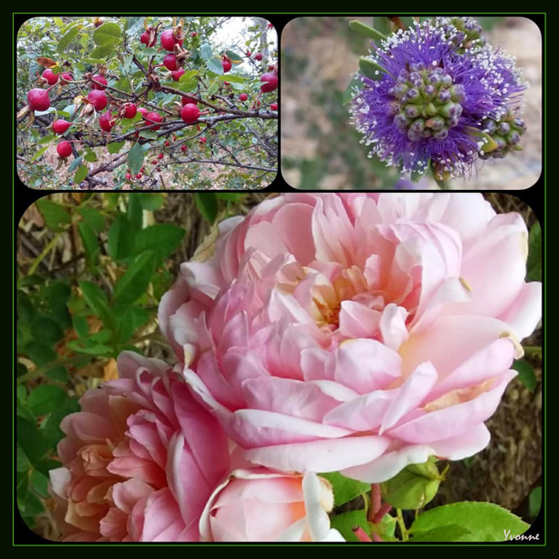
[[[17,542],[544,543],[516,196],[64,192],[16,251]]]

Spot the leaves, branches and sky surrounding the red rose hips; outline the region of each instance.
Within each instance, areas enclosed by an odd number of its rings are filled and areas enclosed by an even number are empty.
[[[268,28],[268,21],[260,17],[182,17],[184,48],[190,51],[184,68],[187,72],[175,82],[166,68],[156,68],[163,89],[150,89],[147,103],[142,92],[147,84],[149,63],[161,64],[166,51],[157,52],[161,31],[173,24],[172,17],[104,17],[101,27],[95,27],[93,17],[33,17],[25,21],[17,33],[17,110],[27,104],[27,92],[38,86],[38,75],[44,68],[38,57],[57,61],[55,71],[70,71],[75,80],[87,72],[98,73],[99,65],[107,68],[106,93],[119,99],[142,102],[150,110],[162,113],[168,124],[154,132],[140,133],[138,150],[131,161],[129,153],[133,134],[142,119],[123,119],[110,132],[108,138],[101,133],[97,119],[81,129],[72,126],[64,135],[66,140],[80,140],[73,144],[73,155],[67,166],[57,168],[59,157],[56,146],[59,137],[52,134],[48,125],[58,117],[68,122],[77,119],[73,100],[79,94],[87,95],[89,85],[73,84],[61,87],[60,81],[50,92],[49,112],[36,113],[34,124],[27,118],[17,126],[17,171],[24,184],[42,189],[258,189],[268,186],[277,173],[277,113],[270,111],[270,104],[277,101],[277,91],[263,94],[259,101],[261,117],[255,117],[252,103],[260,93],[260,76],[270,64],[277,62],[277,34]],[[157,44],[146,48],[140,44],[144,21],[156,26],[161,23]],[[178,22],[179,18],[175,18]],[[117,37],[101,34],[103,26],[118,29]],[[196,33],[192,38],[191,33]],[[261,52],[262,61],[245,53]],[[233,68],[224,74],[220,57],[226,51],[233,59]],[[68,65],[69,64],[69,65]],[[143,68],[144,71],[142,71]],[[229,85],[225,85],[225,82]],[[43,86],[44,87],[44,86]],[[167,89],[166,89],[167,88]],[[213,106],[225,109],[223,114],[211,111],[201,117],[201,128],[187,125],[179,115],[180,98],[168,88],[178,89],[201,97]],[[238,97],[245,92],[244,103]],[[138,94],[138,98],[134,97]],[[149,104],[148,104],[149,103]],[[178,105],[176,104],[178,103]],[[201,107],[201,110],[208,107]],[[242,110],[245,115],[231,111]],[[85,117],[78,118],[84,122]],[[210,124],[206,129],[205,124]],[[205,136],[207,143],[198,140]],[[166,146],[166,141],[170,145]],[[185,144],[187,152],[180,147]],[[152,160],[159,154],[157,170]],[[141,160],[145,172],[141,180],[126,180],[126,166],[136,166]],[[126,163],[128,165],[126,165]]]

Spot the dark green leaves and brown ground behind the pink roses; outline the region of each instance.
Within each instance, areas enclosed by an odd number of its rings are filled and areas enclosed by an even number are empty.
[[[115,378],[122,349],[174,362],[157,326],[161,295],[212,222],[246,214],[263,198],[73,192],[45,196],[24,213],[17,234],[17,505],[38,534],[58,537],[48,470],[58,465],[61,419],[78,409],[87,389]],[[541,232],[532,210],[514,196],[487,198],[499,212],[523,215],[531,231],[528,278],[540,279]],[[488,421],[491,444],[451,463],[428,507],[488,500],[528,522],[535,518],[542,474],[541,331],[525,344],[525,359],[516,365],[521,375]]]

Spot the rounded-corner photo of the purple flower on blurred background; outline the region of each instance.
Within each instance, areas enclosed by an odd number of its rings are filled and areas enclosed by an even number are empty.
[[[528,17],[297,17],[281,73],[292,187],[526,189],[542,173],[542,34]]]

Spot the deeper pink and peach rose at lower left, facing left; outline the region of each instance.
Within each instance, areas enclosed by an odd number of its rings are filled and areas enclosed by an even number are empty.
[[[51,470],[66,541],[196,542],[198,520],[228,472],[226,436],[168,365],[126,351],[119,379],[66,416]]]

